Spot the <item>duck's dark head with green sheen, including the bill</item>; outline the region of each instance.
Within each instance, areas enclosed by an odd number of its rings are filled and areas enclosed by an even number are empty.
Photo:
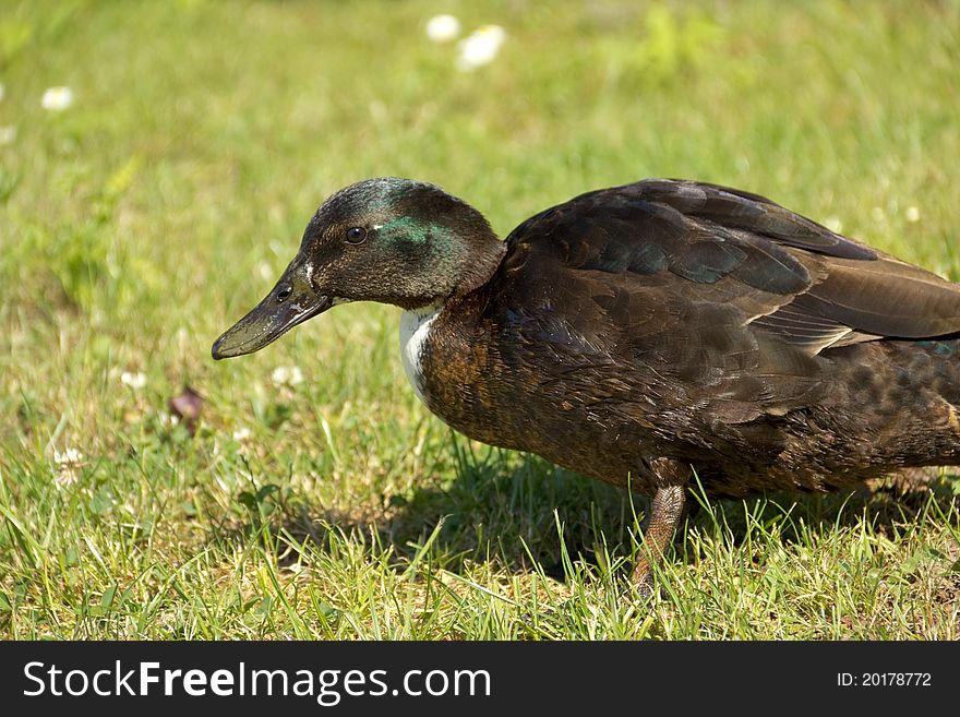
[[[505,248],[477,210],[439,187],[393,177],[332,195],[273,290],[213,346],[215,359],[260,350],[348,301],[404,309],[482,286]]]

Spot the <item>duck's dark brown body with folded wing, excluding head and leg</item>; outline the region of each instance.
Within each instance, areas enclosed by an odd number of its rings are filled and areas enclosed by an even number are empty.
[[[728,213],[670,211],[692,192]],[[411,382],[470,438],[649,494],[659,480],[638,457],[691,464],[708,493],[729,497],[960,462],[960,339],[929,338],[960,331],[960,288],[787,213],[771,231],[794,229],[811,249],[734,228],[768,206],[640,182],[548,210],[511,234],[488,284],[408,312],[401,323],[429,318],[408,345]],[[717,247],[735,252],[725,271]],[[665,261],[650,271],[655,253],[682,273]],[[857,294],[860,273],[877,270]],[[847,302],[827,304],[840,272]],[[796,308],[801,297],[819,310]]]

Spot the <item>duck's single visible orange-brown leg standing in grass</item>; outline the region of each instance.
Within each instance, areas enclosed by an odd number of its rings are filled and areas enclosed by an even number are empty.
[[[651,462],[658,482],[663,481],[653,494],[650,515],[645,523],[640,554],[634,565],[634,582],[644,595],[653,591],[652,564],[663,558],[667,545],[673,538],[683,517],[686,501],[686,476],[689,468],[676,461],[659,458]]]

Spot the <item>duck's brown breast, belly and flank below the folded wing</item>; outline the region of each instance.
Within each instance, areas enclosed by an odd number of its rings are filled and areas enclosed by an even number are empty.
[[[730,498],[835,490],[903,467],[960,462],[956,339],[832,349],[815,372],[783,382],[797,392],[790,407],[758,399],[771,408],[731,421],[721,416],[733,407],[711,399],[708,383],[681,381],[657,359],[624,375],[616,361],[586,361],[563,339],[544,356],[551,338],[543,327],[502,323],[507,314],[484,306],[487,298],[440,311],[411,377],[432,413],[478,441],[647,494],[659,481],[638,455],[689,464],[708,494]],[[526,343],[533,335],[539,345]],[[938,366],[945,357],[958,366]]]

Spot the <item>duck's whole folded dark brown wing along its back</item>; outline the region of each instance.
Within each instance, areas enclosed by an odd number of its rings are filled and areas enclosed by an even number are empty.
[[[521,340],[636,361],[744,416],[808,390],[841,346],[960,333],[960,286],[712,184],[591,192],[507,242],[492,298]]]

